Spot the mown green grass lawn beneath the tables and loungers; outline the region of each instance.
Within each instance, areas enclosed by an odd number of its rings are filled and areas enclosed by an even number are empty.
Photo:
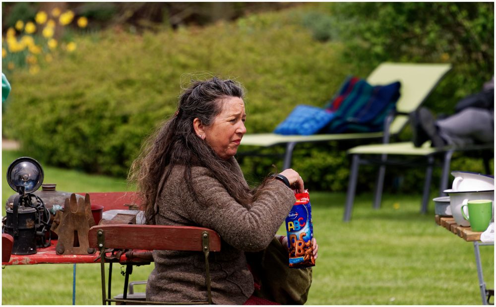
[[[2,153],[2,176],[18,156]],[[45,182],[63,191],[126,190],[124,179],[90,176],[44,167]],[[345,193],[310,191],[319,256],[313,269],[309,305],[480,305],[472,243],[449,233],[420,211],[415,195],[386,194],[372,209],[372,194],[356,197],[352,220],[342,222]],[[13,191],[2,181],[2,203]],[[434,197],[434,195],[433,195]],[[2,209],[4,214],[4,208]],[[279,231],[284,234],[281,228]],[[484,277],[494,289],[494,248],[481,247]],[[2,269],[3,305],[70,305],[71,264],[19,265]],[[152,265],[137,267],[131,280],[146,280]],[[114,265],[113,295],[124,277]],[[143,292],[144,286],[137,286]],[[76,304],[101,304],[98,264],[78,264]]]

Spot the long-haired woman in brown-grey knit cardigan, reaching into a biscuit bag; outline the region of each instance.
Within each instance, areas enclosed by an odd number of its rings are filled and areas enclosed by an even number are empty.
[[[149,137],[133,163],[147,224],[215,230],[220,252],[210,254],[212,301],[241,305],[254,291],[245,251],[269,245],[304,190],[299,174],[284,170],[248,187],[234,158],[245,128],[243,87],[212,78],[196,81],[179,98],[176,114]],[[288,184],[288,185],[287,185]],[[281,238],[287,246],[287,238]],[[314,257],[318,246],[313,241]],[[146,299],[191,302],[206,299],[202,253],[153,251],[155,269]]]

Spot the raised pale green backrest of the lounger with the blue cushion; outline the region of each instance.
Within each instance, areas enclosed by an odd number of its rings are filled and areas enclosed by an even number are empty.
[[[372,85],[384,85],[400,81],[401,96],[396,103],[396,110],[411,113],[421,106],[450,69],[451,64],[449,63],[384,62],[372,71],[367,81]],[[389,127],[390,133],[399,133],[407,122],[407,116],[396,116]]]

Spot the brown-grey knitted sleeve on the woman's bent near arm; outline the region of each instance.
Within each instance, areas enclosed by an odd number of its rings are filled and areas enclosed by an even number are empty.
[[[296,198],[280,181],[265,185],[249,209],[238,203],[205,168],[196,168],[193,185],[201,204],[191,202],[184,208],[198,225],[211,228],[231,246],[245,251],[269,245],[291,210]]]

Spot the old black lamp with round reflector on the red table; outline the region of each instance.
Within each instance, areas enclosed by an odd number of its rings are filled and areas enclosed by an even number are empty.
[[[18,193],[6,207],[2,232],[14,238],[12,254],[36,253],[50,245],[50,212],[43,200],[32,194],[43,183],[43,168],[33,158],[21,157],[7,169],[7,182]],[[48,238],[47,238],[48,237]]]

